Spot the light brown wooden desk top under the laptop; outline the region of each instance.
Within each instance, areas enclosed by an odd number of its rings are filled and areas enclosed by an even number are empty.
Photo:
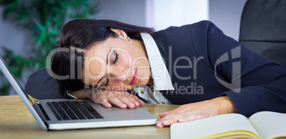
[[[154,116],[178,105],[145,104]],[[0,138],[170,138],[170,129],[156,126],[44,131],[19,96],[0,96]]]

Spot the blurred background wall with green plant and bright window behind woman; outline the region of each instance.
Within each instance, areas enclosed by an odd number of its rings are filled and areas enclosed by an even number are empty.
[[[75,18],[112,19],[161,30],[209,20],[238,40],[246,0],[0,0],[0,54],[25,85],[46,67],[60,28]],[[0,72],[0,96],[15,95]]]

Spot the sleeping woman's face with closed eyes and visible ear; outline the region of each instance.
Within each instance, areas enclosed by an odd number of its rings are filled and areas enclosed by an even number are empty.
[[[144,45],[134,45],[124,31],[112,30],[119,36],[108,38],[86,52],[83,82],[107,90],[143,87],[150,78],[149,62],[142,49]]]

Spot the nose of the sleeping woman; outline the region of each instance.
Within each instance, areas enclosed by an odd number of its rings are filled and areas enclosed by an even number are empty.
[[[110,70],[110,75],[120,82],[125,82],[127,79],[127,70],[128,69],[124,67],[116,67]]]

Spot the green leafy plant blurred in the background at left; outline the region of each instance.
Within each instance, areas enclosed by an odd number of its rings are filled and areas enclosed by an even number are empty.
[[[33,55],[23,57],[4,48],[7,65],[22,80],[26,71],[46,67],[46,56],[55,48],[58,32],[63,25],[75,18],[90,18],[97,13],[98,4],[90,0],[0,0],[4,7],[4,21],[31,32]],[[6,95],[9,84],[0,74],[0,95]]]

